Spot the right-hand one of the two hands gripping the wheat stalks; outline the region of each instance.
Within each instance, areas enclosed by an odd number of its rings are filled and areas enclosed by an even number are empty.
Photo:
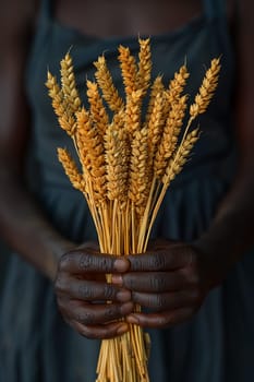
[[[112,282],[130,289],[134,303],[148,308],[126,317],[141,326],[166,327],[191,319],[214,283],[208,258],[189,244],[168,241],[128,259],[129,272]]]

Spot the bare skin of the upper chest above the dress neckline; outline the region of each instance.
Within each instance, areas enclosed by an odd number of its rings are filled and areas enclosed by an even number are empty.
[[[227,1],[229,17],[232,1]],[[204,0],[56,0],[55,16],[61,24],[88,35],[154,35],[177,29],[201,15],[204,3]]]

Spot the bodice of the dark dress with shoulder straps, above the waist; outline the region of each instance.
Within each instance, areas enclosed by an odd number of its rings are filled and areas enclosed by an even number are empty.
[[[207,112],[195,123],[201,126],[202,136],[194,155],[176,180],[216,164],[231,151],[231,106],[233,91],[233,51],[228,29],[226,1],[203,0],[203,12],[184,26],[169,33],[150,37],[153,79],[164,74],[167,85],[174,72],[186,61],[191,73],[186,93],[190,99],[198,91],[210,60],[221,57],[219,86]],[[107,16],[105,14],[105,16]],[[60,60],[71,48],[76,84],[85,100],[85,79],[94,79],[93,62],[104,52],[116,86],[123,93],[121,71],[118,62],[118,46],[129,46],[133,55],[138,53],[138,36],[96,37],[60,24],[55,17],[53,4],[44,0],[37,33],[27,68],[27,92],[33,112],[32,151],[37,165],[38,188],[71,189],[57,158],[57,147],[69,147],[74,154],[70,138],[59,128],[47,94],[45,81],[48,68],[59,79]],[[152,79],[152,80],[153,80]],[[60,79],[59,79],[60,80]],[[75,156],[75,155],[74,155]]]

